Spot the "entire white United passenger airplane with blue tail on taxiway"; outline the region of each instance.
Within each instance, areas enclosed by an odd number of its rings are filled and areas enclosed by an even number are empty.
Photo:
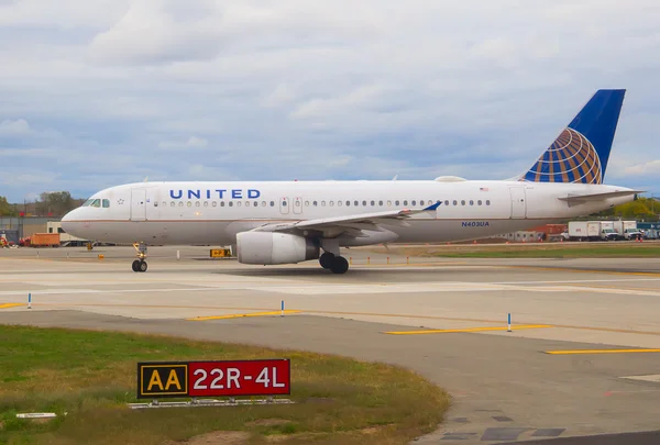
[[[506,180],[136,182],[95,193],[62,227],[85,240],[231,246],[250,265],[318,259],[344,274],[340,247],[464,241],[588,215],[640,191],[603,178],[625,89],[597,90],[531,167]]]

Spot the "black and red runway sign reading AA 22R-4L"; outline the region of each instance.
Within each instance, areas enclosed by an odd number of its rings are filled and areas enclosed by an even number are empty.
[[[138,398],[290,394],[288,359],[138,364]]]

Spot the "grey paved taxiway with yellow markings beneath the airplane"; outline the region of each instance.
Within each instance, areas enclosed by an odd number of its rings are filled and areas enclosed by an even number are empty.
[[[2,249],[0,323],[402,365],[454,399],[422,444],[660,430],[660,262],[345,255],[352,268],[337,276],[314,262],[243,266],[208,247],[152,247],[136,274],[131,248]]]

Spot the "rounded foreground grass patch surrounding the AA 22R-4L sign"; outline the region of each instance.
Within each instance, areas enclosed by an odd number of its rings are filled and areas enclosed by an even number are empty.
[[[217,431],[245,443],[405,444],[449,405],[408,370],[296,351],[121,333],[0,326],[0,444],[173,444]],[[136,361],[290,358],[293,405],[133,411]],[[18,412],[56,412],[54,421]],[[67,413],[64,415],[64,413]],[[260,420],[278,420],[257,422]]]

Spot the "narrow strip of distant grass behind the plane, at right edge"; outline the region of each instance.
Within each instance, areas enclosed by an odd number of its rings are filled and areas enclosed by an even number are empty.
[[[465,251],[436,251],[424,256],[450,258],[650,258],[660,256],[660,246],[645,245],[593,245],[580,247],[540,246],[520,248],[518,246],[488,247]]]

